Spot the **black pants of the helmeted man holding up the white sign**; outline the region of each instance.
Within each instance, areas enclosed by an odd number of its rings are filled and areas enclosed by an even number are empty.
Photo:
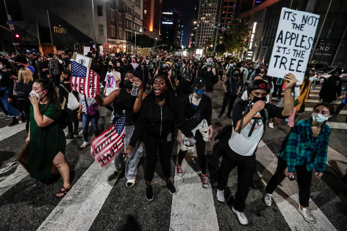
[[[243,212],[246,208],[245,201],[252,184],[255,165],[255,153],[252,156],[242,156],[231,150],[229,145],[226,146],[219,169],[217,189],[225,189],[231,170],[237,166],[237,190],[232,205],[237,211]]]

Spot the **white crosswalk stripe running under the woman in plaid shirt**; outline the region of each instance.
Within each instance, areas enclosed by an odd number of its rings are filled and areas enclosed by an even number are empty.
[[[257,166],[258,174],[266,185],[276,171],[277,158],[269,147],[263,141],[260,141],[256,152],[256,159],[262,165],[261,167],[259,164]],[[278,192],[281,192],[281,195]],[[336,230],[311,198],[309,208],[316,222],[310,224],[304,220],[303,216],[298,212],[299,190],[295,181],[290,181],[287,178],[284,179],[275,192],[273,192],[272,198],[291,230]]]

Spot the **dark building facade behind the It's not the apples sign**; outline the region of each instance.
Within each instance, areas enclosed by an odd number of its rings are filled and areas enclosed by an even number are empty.
[[[246,1],[247,2],[247,1]],[[246,8],[244,2],[239,18],[249,19],[251,36],[247,45],[247,59],[270,62],[274,39],[282,7],[320,15],[311,51],[312,62],[332,66],[347,66],[347,8],[344,0],[265,0],[256,7]],[[327,18],[323,24],[325,14]],[[321,33],[319,34],[321,30]]]

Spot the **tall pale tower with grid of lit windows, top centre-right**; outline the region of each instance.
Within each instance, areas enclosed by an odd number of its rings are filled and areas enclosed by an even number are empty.
[[[206,42],[212,37],[217,20],[218,3],[218,0],[200,1],[196,27],[195,48],[205,48]]]

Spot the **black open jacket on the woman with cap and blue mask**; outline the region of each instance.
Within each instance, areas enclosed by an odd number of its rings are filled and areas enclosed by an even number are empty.
[[[193,136],[193,133],[191,131],[191,128],[189,128],[189,119],[195,115],[195,113],[198,110],[201,110],[200,115],[200,121],[203,121],[203,119],[206,119],[207,124],[211,125],[211,117],[212,117],[212,100],[210,97],[206,95],[202,95],[201,101],[199,106],[197,107],[197,110],[195,110],[189,101],[189,95],[186,96],[182,102],[178,106],[177,110],[177,120],[178,120],[178,129],[181,130],[181,132],[186,137]]]

